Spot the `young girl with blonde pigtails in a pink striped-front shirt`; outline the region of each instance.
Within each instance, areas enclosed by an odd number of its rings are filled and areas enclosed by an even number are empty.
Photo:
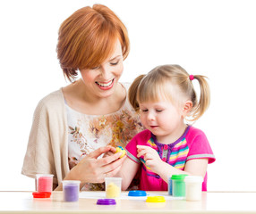
[[[201,87],[199,102],[192,81]],[[128,158],[119,171],[122,189],[130,185],[141,169],[140,189],[167,190],[167,178],[175,174],[204,177],[207,190],[207,166],[215,157],[205,134],[187,125],[209,107],[209,85],[201,75],[189,75],[179,65],[163,65],[136,78],[129,89],[129,101],[141,111],[146,130],[132,138],[125,150]]]

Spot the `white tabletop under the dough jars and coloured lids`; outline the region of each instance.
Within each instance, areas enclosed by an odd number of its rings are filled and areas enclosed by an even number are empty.
[[[97,205],[103,192],[80,193],[79,202],[63,202],[63,193],[54,192],[49,199],[33,199],[31,192],[0,192],[0,213],[256,213],[256,193],[203,192],[201,202],[170,200],[167,192],[147,192],[163,195],[164,203],[149,203],[143,199],[120,199],[116,205]],[[127,195],[127,192],[123,192]]]

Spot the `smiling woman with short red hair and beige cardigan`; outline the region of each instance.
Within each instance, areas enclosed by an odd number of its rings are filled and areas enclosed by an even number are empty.
[[[81,8],[63,22],[57,56],[71,84],[38,103],[22,174],[53,174],[55,190],[64,179],[103,190],[104,178],[115,176],[125,157],[103,154],[142,130],[128,86],[118,82],[129,47],[123,22],[104,5]]]

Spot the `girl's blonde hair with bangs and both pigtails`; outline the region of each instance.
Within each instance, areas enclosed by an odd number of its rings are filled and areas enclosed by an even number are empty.
[[[192,85],[193,78],[197,79],[200,84],[199,101]],[[140,108],[139,103],[158,102],[163,98],[177,104],[182,101],[191,101],[192,111],[186,119],[195,121],[209,107],[209,84],[205,76],[190,77],[187,71],[179,65],[162,65],[149,71],[147,75],[135,78],[129,88],[129,101],[136,111]]]

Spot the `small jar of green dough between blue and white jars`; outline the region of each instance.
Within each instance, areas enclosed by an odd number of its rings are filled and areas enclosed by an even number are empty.
[[[180,174],[180,175],[173,175],[172,181],[173,181],[173,196],[174,197],[185,197],[185,183],[184,183],[184,177],[187,175]]]

